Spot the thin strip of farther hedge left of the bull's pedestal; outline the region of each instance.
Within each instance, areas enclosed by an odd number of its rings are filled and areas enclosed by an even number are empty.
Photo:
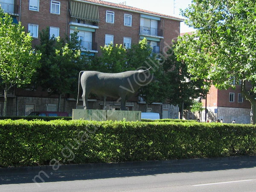
[[[28,121],[34,120],[34,119],[40,119],[44,121],[52,121],[56,119],[63,119],[63,120],[72,120],[72,116],[0,116],[0,120],[4,119],[26,119]]]

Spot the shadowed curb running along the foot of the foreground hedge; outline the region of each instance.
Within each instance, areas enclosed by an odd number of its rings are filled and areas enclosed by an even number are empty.
[[[222,162],[239,162],[239,161],[256,161],[256,156],[238,156],[238,157],[215,157],[202,159],[178,159],[178,160],[157,160],[157,161],[135,161],[123,163],[88,163],[88,164],[70,164],[60,165],[60,171],[74,170],[102,170],[102,169],[128,169],[136,167],[152,167],[152,166],[181,166],[202,163],[222,163]],[[0,168],[0,174],[15,174],[15,173],[33,173],[46,171],[51,172],[53,166],[26,166],[26,167],[8,167]]]

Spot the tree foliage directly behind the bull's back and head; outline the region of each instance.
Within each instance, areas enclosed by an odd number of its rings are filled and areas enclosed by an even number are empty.
[[[152,49],[145,38],[138,44],[131,44],[130,49],[125,49],[122,44],[115,46],[110,44],[101,49],[102,56],[92,61],[92,63],[100,62],[100,67],[97,70],[101,72],[120,73],[129,70],[145,70],[151,66],[150,73],[154,73],[155,79],[160,79],[162,76],[161,69],[158,67],[159,61],[155,57],[151,57]],[[163,102],[164,93],[160,81],[152,81],[150,84],[140,87],[137,94],[142,96],[146,103],[152,103]]]

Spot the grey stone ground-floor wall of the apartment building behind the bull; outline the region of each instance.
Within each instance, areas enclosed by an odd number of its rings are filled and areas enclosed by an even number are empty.
[[[3,98],[0,98],[0,102],[3,102]],[[35,110],[36,111],[47,111],[47,105],[56,105],[58,107],[58,99],[57,98],[48,98],[48,97],[25,97],[25,96],[12,96],[8,98],[7,102],[7,116],[25,116],[26,111],[26,103],[35,103]],[[90,109],[103,109],[103,101],[101,100],[93,100],[89,101],[89,108]],[[116,101],[106,101],[106,109],[119,110],[120,102]],[[126,107],[129,108],[129,111],[146,111],[146,105],[137,102],[127,102]],[[78,107],[76,107],[76,100],[75,99],[61,99],[61,111],[69,113],[72,115],[73,109],[82,109],[83,103],[79,101]],[[170,104],[151,104],[148,105],[148,108],[152,108],[153,113],[159,113],[160,118],[163,116],[163,109],[169,109],[169,118],[170,119],[177,119],[179,108],[177,106],[173,106]]]

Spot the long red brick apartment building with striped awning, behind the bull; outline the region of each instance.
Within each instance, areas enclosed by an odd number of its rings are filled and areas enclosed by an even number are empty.
[[[111,41],[129,48],[143,38],[147,38],[153,52],[165,52],[172,40],[180,35],[180,22],[183,21],[177,17],[102,0],[0,0],[0,4],[4,12],[14,17],[14,22],[20,21],[25,30],[31,33],[33,45],[40,43],[39,32],[47,26],[51,36],[61,38],[77,28],[84,47],[82,51],[90,55],[100,54],[100,46],[110,44]],[[3,96],[0,95],[0,107],[2,101]],[[91,99],[89,105],[98,109],[102,103],[101,100]],[[71,113],[72,108],[76,108],[76,102],[63,97],[61,106],[61,111]],[[119,102],[113,101],[108,101],[107,106],[109,109],[120,108]],[[47,91],[14,89],[9,95],[7,115],[28,115],[31,111],[56,111],[56,108],[57,96],[49,96]],[[141,99],[128,101],[127,108],[157,112],[163,118],[178,116],[175,106],[153,103],[145,109],[145,102]]]

